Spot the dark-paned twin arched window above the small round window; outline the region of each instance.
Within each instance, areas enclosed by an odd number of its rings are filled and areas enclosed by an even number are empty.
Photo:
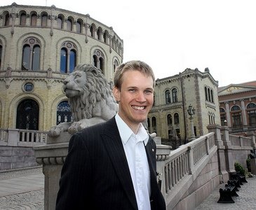
[[[22,70],[39,71],[40,41],[36,38],[26,38],[22,50]]]

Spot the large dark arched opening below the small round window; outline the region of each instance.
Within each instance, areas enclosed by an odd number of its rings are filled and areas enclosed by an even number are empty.
[[[39,130],[39,105],[33,99],[18,104],[16,129]]]

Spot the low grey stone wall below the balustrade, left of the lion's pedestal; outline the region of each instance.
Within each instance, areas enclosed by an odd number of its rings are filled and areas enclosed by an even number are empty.
[[[38,165],[32,147],[0,146],[0,170]]]

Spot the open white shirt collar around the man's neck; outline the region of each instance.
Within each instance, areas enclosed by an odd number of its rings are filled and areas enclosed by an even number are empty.
[[[130,127],[128,127],[128,125],[122,120],[118,113],[116,114],[115,119],[123,144],[126,144],[130,137],[134,135],[136,139],[138,139],[138,141],[144,141],[144,145],[147,145],[147,142],[149,141],[149,134],[145,130],[142,123],[140,123],[140,127],[139,130],[137,131],[137,134],[134,134]]]

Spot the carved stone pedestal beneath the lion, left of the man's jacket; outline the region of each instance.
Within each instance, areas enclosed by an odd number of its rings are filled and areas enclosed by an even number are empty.
[[[34,147],[36,162],[43,165],[44,174],[44,209],[55,209],[59,190],[60,173],[68,151],[71,135],[61,133],[59,137],[48,137],[47,144]]]

